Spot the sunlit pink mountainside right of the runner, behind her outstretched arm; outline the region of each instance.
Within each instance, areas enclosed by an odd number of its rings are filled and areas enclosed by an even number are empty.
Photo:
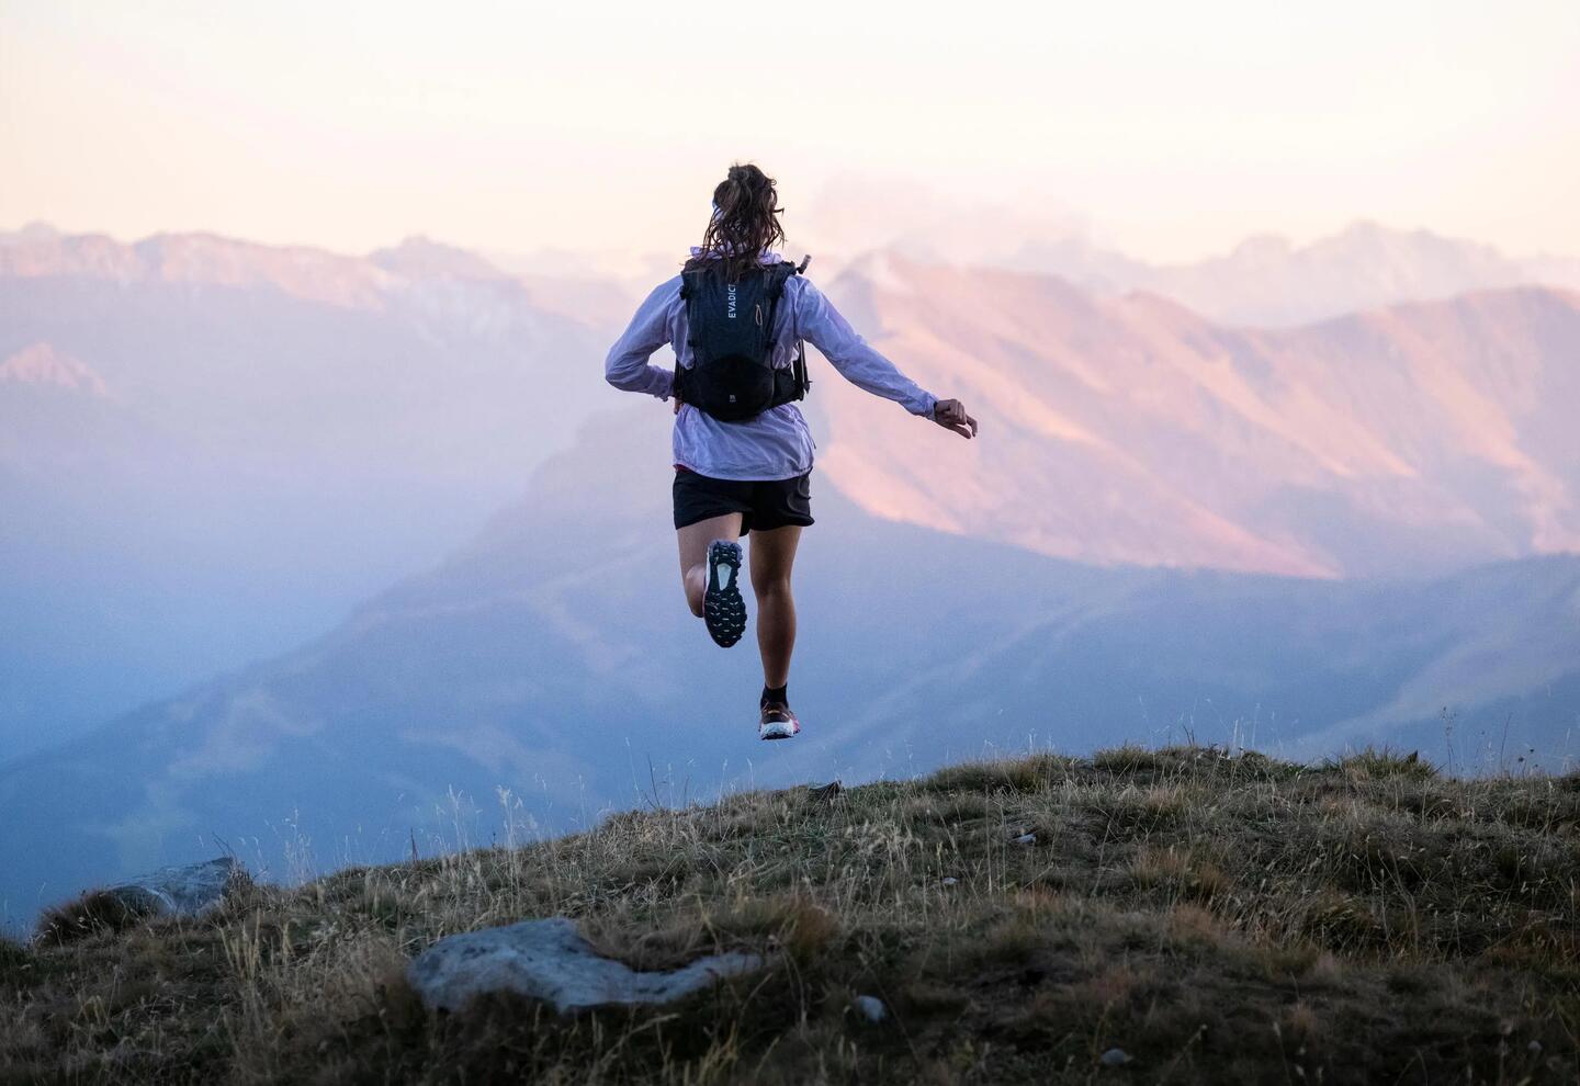
[[[1394,576],[1580,549],[1580,295],[1288,330],[875,254],[826,290],[983,437],[814,369],[823,474],[880,516],[1084,562]],[[954,444],[951,444],[954,442]]]

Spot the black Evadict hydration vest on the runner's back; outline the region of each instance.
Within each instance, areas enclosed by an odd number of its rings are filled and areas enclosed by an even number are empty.
[[[675,368],[675,390],[683,403],[738,423],[806,396],[812,382],[806,376],[804,346],[796,344],[793,366],[773,365],[774,317],[785,279],[799,275],[806,264],[758,265],[739,283],[724,281],[722,264],[681,275],[686,343],[692,349],[692,365]]]

